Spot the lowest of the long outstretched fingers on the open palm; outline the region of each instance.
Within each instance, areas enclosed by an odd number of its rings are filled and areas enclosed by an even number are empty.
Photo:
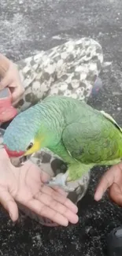
[[[28,207],[39,216],[47,217],[51,221],[61,224],[62,226],[68,226],[68,219],[62,216],[60,213],[57,213],[55,210],[50,209],[50,207],[45,206],[43,203],[39,202],[36,199],[32,199],[28,202]]]

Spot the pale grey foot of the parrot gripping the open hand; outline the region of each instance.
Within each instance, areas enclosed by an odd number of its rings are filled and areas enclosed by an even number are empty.
[[[72,192],[74,191],[73,187],[70,187],[67,185],[67,179],[68,179],[68,172],[59,173],[57,176],[51,178],[46,184],[50,187],[59,186],[63,188],[66,192]]]

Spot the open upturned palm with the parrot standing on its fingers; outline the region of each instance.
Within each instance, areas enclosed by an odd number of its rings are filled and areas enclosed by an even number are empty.
[[[77,206],[61,189],[56,191],[44,185],[48,178],[31,161],[20,168],[13,167],[6,151],[0,150],[0,202],[13,221],[18,218],[17,201],[57,224],[67,226],[68,221],[78,222]]]

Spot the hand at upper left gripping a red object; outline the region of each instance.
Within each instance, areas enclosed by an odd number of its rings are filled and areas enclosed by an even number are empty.
[[[9,69],[7,69],[0,82],[0,90],[2,91],[5,87],[9,87],[12,94],[13,105],[16,105],[24,94],[24,87],[20,81],[17,65],[12,61],[9,61]]]

